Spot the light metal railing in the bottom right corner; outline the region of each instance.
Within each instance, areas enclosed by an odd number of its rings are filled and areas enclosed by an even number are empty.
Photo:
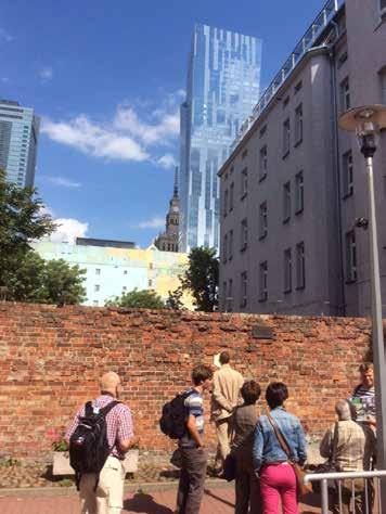
[[[334,512],[381,514],[382,478],[386,478],[386,471],[313,473],[305,476],[305,483],[320,484],[322,514],[329,514],[332,503],[336,505]],[[386,484],[384,483],[382,487],[386,487]],[[361,507],[358,505],[357,509],[357,502]],[[350,503],[351,510],[349,510]]]

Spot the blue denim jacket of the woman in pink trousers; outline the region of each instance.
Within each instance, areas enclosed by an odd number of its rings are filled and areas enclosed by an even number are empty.
[[[278,407],[270,412],[291,449],[291,460],[303,464],[307,459],[307,444],[299,420]],[[270,462],[286,462],[288,458],[266,415],[261,415],[255,428],[253,459],[255,470]]]

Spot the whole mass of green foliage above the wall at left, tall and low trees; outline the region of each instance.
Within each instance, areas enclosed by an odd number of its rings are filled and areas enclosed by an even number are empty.
[[[31,188],[18,188],[0,170],[0,286],[16,301],[79,304],[85,298],[86,271],[62,259],[43,260],[30,243],[55,229]]]

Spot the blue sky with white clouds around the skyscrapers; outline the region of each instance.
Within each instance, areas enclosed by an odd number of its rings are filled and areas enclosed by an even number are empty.
[[[2,0],[0,98],[42,117],[36,185],[62,232],[147,246],[162,230],[194,23],[262,39],[263,87],[322,4]]]

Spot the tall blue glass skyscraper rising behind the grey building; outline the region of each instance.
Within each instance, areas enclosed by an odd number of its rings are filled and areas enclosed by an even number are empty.
[[[259,98],[261,41],[195,25],[181,105],[183,249],[219,245],[217,171]]]

